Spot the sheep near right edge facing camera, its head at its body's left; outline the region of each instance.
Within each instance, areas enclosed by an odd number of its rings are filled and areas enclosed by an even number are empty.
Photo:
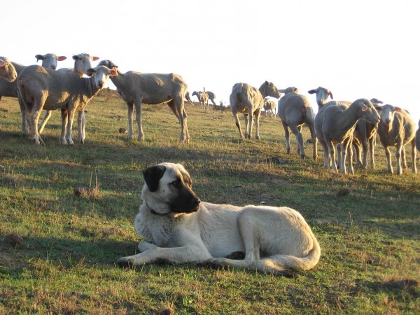
[[[400,107],[389,104],[378,106],[381,121],[378,126],[379,139],[384,146],[388,172],[392,174],[390,146],[396,146],[395,158],[397,159],[397,174],[402,174],[402,167],[407,168],[405,159],[405,145],[412,144],[412,172],[416,169],[416,125],[409,113]],[[402,159],[402,162],[401,162]],[[402,167],[401,167],[402,164]]]

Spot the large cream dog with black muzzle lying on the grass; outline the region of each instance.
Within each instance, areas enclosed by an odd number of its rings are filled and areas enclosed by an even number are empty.
[[[140,253],[118,259],[122,267],[193,262],[290,275],[318,263],[318,241],[293,209],[201,202],[180,164],[148,167],[143,176],[134,227],[145,241]],[[227,258],[238,253],[244,259]]]

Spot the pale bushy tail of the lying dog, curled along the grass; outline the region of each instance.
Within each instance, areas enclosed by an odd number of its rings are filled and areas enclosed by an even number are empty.
[[[270,274],[289,275],[292,270],[309,270],[318,263],[321,257],[321,246],[313,237],[314,246],[305,257],[291,255],[272,255],[257,262],[257,269]]]

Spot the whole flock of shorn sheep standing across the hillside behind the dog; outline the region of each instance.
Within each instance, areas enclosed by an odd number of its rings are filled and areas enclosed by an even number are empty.
[[[62,144],[73,144],[71,130],[73,119],[78,113],[78,141],[85,141],[85,114],[87,103],[101,90],[106,81],[111,78],[128,107],[128,134],[133,135],[133,111],[136,109],[136,123],[139,141],[144,139],[141,127],[141,104],[168,104],[181,125],[179,140],[186,143],[190,139],[187,126],[187,114],[184,99],[190,104],[191,96],[188,86],[176,73],[140,73],[127,71],[121,73],[118,66],[110,60],[102,60],[95,67],[92,57],[86,53],[73,55],[73,69],[58,69],[57,62],[66,59],[55,54],[36,55],[36,60],[42,60],[41,66],[22,66],[10,62],[6,57],[0,57],[0,99],[1,96],[17,97],[22,113],[22,132],[31,134],[35,144],[43,144],[41,132],[50,118],[51,111],[60,109],[62,113],[62,132],[59,141]],[[87,75],[88,77],[83,77]],[[283,97],[281,97],[283,93]],[[262,108],[266,115],[274,116],[276,104],[267,101],[267,97],[279,99],[278,114],[286,137],[286,151],[290,154],[289,129],[297,139],[297,152],[305,157],[304,143],[301,134],[303,124],[307,124],[311,132],[313,144],[312,158],[317,157],[318,141],[323,146],[324,168],[346,174],[346,161],[349,173],[353,173],[353,148],[356,152],[356,167],[367,167],[367,154],[370,155],[370,167],[374,168],[373,150],[376,134],[379,134],[381,144],[385,148],[388,172],[393,172],[389,148],[396,147],[397,174],[402,174],[402,168],[407,168],[405,145],[412,144],[412,172],[416,173],[416,148],[420,151],[420,128],[407,111],[391,105],[380,105],[377,99],[357,99],[355,102],[328,101],[333,99],[332,92],[318,87],[310,90],[316,94],[318,114],[309,104],[307,97],[300,94],[296,87],[279,90],[268,81],[262,83],[259,89],[246,83],[237,83],[232,87],[230,105],[239,137],[251,139],[253,123],[255,123],[255,138],[260,139],[259,118]],[[209,99],[214,105],[214,93],[210,91],[193,92],[208,109]],[[40,125],[38,120],[41,111],[45,116]],[[242,133],[238,114],[244,115],[245,134]],[[420,125],[420,122],[419,122]],[[335,148],[338,151],[338,162],[335,162]],[[363,152],[363,162],[361,153]]]

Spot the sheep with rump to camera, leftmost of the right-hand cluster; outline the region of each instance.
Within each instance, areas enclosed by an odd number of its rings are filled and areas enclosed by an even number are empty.
[[[312,158],[316,160],[318,140],[314,129],[314,110],[311,108],[309,100],[304,95],[298,94],[296,87],[288,87],[286,90],[280,90],[280,92],[285,93],[279,99],[278,112],[284,129],[284,137],[286,138],[287,154],[290,154],[290,134],[288,131],[290,128],[297,140],[297,153],[300,154],[300,158],[303,159],[305,157],[303,137],[300,131],[302,130],[302,125],[306,123],[311,132]]]

